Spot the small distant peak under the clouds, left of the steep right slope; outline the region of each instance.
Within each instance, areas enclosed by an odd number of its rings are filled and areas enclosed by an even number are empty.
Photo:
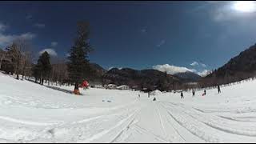
[[[182,81],[185,81],[185,82],[198,82],[198,80],[202,78],[200,75],[194,74],[193,72],[190,72],[190,71],[177,73],[177,74],[174,74],[174,76],[177,76],[178,78],[180,78]]]

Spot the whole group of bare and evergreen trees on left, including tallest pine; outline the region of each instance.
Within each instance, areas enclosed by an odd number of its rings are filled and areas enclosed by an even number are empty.
[[[5,50],[0,51],[0,70],[8,74],[16,74],[16,78],[22,79],[34,77],[34,81],[43,85],[45,81],[56,84],[74,85],[78,91],[79,84],[94,75],[90,66],[88,54],[93,50],[88,41],[90,34],[89,22],[78,22],[77,37],[74,46],[70,49],[70,56],[66,60],[53,62],[50,54],[43,52],[38,62],[34,64],[35,54],[32,53],[32,45],[23,38],[15,39]],[[79,94],[79,91],[78,93]]]

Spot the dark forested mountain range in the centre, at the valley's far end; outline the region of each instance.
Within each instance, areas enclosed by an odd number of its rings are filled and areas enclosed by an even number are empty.
[[[103,83],[138,86],[139,90],[172,90],[174,85],[181,84],[179,78],[158,70],[133,70],[130,68],[113,68],[103,75]]]

